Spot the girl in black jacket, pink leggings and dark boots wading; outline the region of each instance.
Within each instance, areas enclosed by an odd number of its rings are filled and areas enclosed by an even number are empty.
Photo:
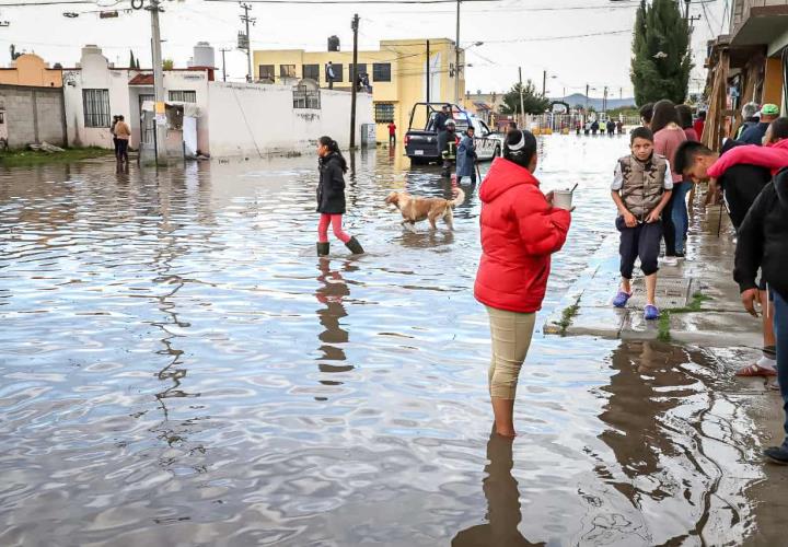
[[[339,146],[331,137],[321,137],[317,141],[320,183],[317,184],[317,212],[321,213],[317,225],[317,256],[327,256],[328,224],[334,235],[340,240],[354,255],[363,254],[356,237],[343,231],[341,216],[345,214],[345,173],[347,162],[339,152]]]

